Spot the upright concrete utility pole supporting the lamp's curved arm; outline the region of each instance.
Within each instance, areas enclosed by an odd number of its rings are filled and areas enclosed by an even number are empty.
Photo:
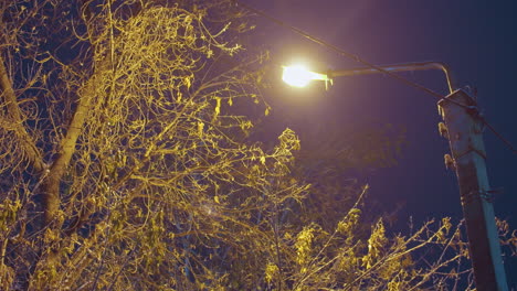
[[[458,89],[439,101],[439,111],[460,185],[476,290],[507,291],[476,101]]]

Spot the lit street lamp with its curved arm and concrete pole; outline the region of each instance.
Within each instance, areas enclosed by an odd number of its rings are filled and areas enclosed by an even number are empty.
[[[303,76],[303,82],[298,84],[307,85],[313,79],[323,79],[327,83],[339,76],[428,69],[442,71],[449,85],[450,94],[437,103],[440,115],[444,120],[440,122],[439,129],[441,134],[449,139],[451,148],[452,157],[445,154],[445,162],[456,171],[476,289],[478,291],[507,291],[508,285],[492,205],[493,191],[490,191],[486,173],[484,125],[479,118],[476,100],[464,90],[455,88],[451,71],[446,65],[437,62],[423,62],[329,71],[327,74],[308,71],[303,74],[292,74],[291,69],[284,67],[283,79],[287,78],[291,84],[296,84],[296,79],[293,78]]]

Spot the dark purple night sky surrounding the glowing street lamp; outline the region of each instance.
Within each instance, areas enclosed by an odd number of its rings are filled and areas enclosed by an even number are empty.
[[[517,147],[517,2],[447,0],[263,0],[245,1],[285,23],[299,28],[374,64],[444,62],[456,86],[477,91],[486,119]],[[316,69],[360,66],[328,48],[257,19],[255,35],[271,50],[274,63],[304,61]],[[446,94],[441,72],[404,77]],[[298,133],[319,125],[342,123],[361,130],[371,125],[402,127],[407,143],[398,164],[368,173],[370,197],[384,207],[403,203],[400,219],[462,217],[456,177],[444,166],[447,141],[437,133],[436,100],[423,91],[382,75],[335,79],[308,89],[273,84],[268,91],[272,119]],[[274,100],[272,100],[274,98]],[[278,118],[282,116],[283,118]],[[291,118],[285,118],[291,116]],[[321,128],[321,126],[319,126]],[[325,126],[324,126],[325,128]],[[325,134],[325,130],[319,130]],[[487,166],[497,194],[495,212],[517,227],[517,155],[485,130]],[[302,147],[304,140],[302,139]],[[516,259],[508,259],[508,280],[517,288]]]

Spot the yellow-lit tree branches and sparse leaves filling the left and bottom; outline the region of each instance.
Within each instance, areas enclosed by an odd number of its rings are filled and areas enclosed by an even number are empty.
[[[421,290],[464,273],[449,220],[389,238],[381,220],[358,231],[356,204],[321,227],[296,134],[246,141],[232,108],[260,103],[265,56],[239,45],[251,26],[232,1],[0,14],[1,289]],[[415,268],[429,246],[441,255]]]

